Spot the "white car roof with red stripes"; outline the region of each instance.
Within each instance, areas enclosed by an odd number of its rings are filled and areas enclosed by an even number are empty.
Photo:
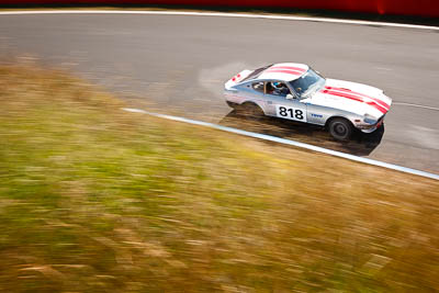
[[[309,69],[306,64],[299,63],[279,63],[273,64],[266,70],[263,70],[258,79],[274,79],[282,81],[291,81],[300,78]]]

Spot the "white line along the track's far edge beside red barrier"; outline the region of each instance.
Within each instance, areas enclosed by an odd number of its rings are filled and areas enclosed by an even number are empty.
[[[417,30],[439,31],[438,26],[404,24],[393,22],[356,21],[309,16],[288,16],[273,14],[251,14],[251,13],[225,13],[225,12],[192,12],[192,11],[131,11],[131,10],[40,10],[40,11],[4,11],[0,15],[23,15],[23,14],[158,14],[158,15],[190,15],[190,16],[218,16],[218,18],[245,18],[245,19],[267,19],[284,21],[311,21],[326,23],[344,23],[360,25],[381,25],[390,27],[405,27]]]

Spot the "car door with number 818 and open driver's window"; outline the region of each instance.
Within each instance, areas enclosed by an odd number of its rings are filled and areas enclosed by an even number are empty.
[[[273,82],[281,83],[284,90],[272,90],[271,84]],[[297,95],[284,82],[268,81],[266,84],[266,95],[271,102],[271,115],[280,119],[307,122],[306,103],[301,102]]]

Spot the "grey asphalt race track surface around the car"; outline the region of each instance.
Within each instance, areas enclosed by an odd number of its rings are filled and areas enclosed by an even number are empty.
[[[190,15],[0,15],[0,56],[61,66],[157,112],[439,173],[437,31]],[[279,61],[383,89],[394,100],[384,132],[341,144],[319,128],[230,112],[224,81]]]

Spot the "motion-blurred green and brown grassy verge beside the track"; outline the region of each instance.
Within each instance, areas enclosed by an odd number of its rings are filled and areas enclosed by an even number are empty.
[[[0,291],[439,289],[439,184],[0,66]]]

